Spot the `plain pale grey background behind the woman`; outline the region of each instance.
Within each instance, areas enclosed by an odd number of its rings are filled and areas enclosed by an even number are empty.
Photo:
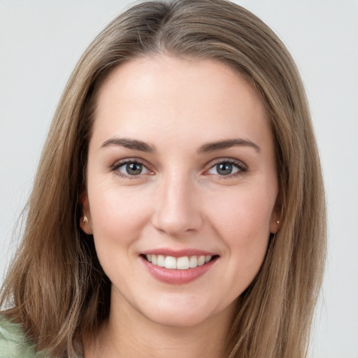
[[[236,1],[280,36],[308,92],[329,256],[310,357],[358,358],[358,1]],[[127,0],[0,0],[0,282],[51,117],[80,55]]]

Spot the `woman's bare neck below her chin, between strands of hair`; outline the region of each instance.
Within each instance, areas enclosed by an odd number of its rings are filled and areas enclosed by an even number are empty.
[[[111,303],[96,337],[83,336],[85,358],[222,358],[232,307],[199,324],[174,327],[148,320],[128,303]]]

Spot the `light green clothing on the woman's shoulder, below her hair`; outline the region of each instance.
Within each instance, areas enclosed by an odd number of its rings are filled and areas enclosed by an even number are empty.
[[[20,324],[8,320],[0,313],[0,358],[43,357],[34,350],[34,343],[27,338]]]

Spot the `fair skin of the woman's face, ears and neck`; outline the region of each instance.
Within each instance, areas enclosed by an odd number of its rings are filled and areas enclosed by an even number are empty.
[[[157,55],[117,67],[97,105],[81,226],[112,295],[85,357],[219,358],[278,229],[264,104],[225,64]]]

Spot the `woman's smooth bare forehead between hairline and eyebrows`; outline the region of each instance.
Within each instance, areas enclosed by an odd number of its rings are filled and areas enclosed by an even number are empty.
[[[176,141],[191,133],[215,141],[232,136],[234,127],[253,141],[271,135],[253,85],[222,62],[162,55],[133,59],[110,73],[97,94],[93,133],[103,141],[114,135]]]

